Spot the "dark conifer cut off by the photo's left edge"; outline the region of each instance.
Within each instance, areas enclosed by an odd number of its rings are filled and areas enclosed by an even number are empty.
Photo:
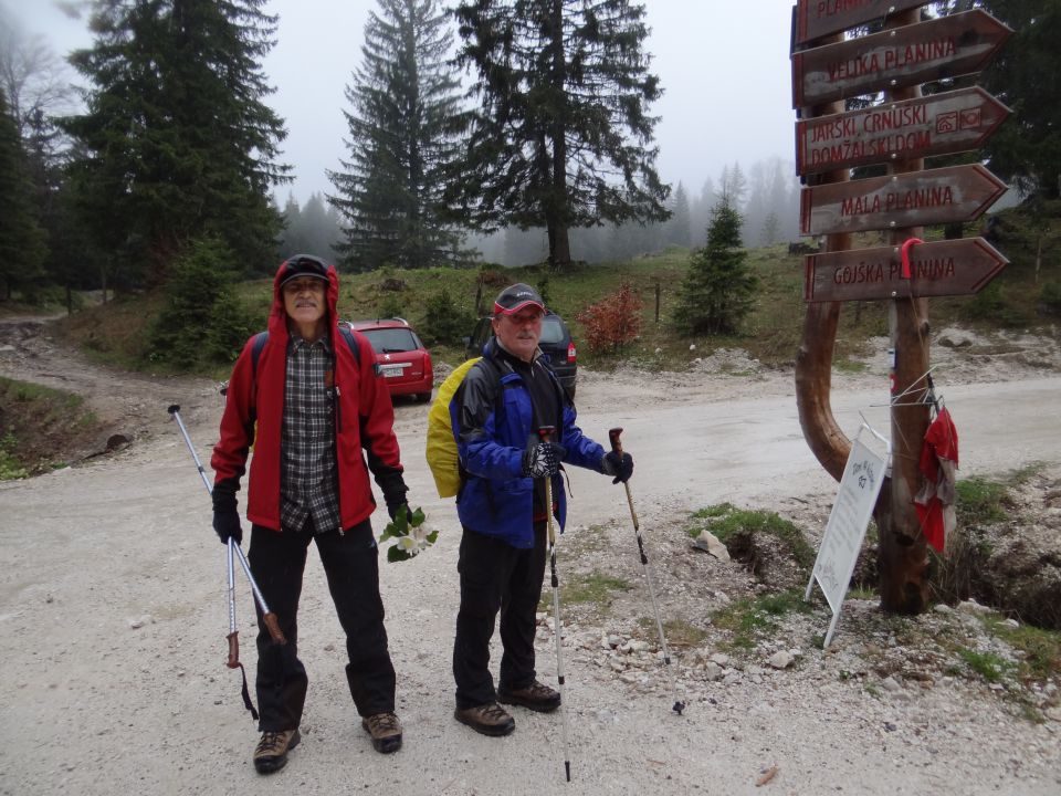
[[[19,125],[0,87],[0,300],[33,290],[48,255]]]

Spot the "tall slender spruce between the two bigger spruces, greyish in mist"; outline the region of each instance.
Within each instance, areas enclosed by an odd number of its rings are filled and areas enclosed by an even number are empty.
[[[351,270],[438,265],[458,253],[443,189],[464,122],[448,24],[437,0],[379,0],[365,25],[346,88],[349,159],[328,172]]]

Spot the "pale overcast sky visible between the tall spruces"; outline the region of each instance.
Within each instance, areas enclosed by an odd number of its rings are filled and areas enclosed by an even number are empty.
[[[92,42],[86,19],[71,19],[56,0],[0,0],[28,34],[41,34],[65,54]],[[795,112],[788,59],[792,0],[647,0],[652,29],[647,49],[664,95],[652,106],[660,176],[682,180],[696,196],[706,178],[737,161],[794,159]],[[360,63],[361,38],[375,0],[270,0],[280,14],[277,43],[264,67],[285,119],[284,161],[300,203],[329,192],[325,169],[345,156],[344,87]],[[754,8],[754,11],[752,10]],[[795,168],[795,167],[794,167]]]

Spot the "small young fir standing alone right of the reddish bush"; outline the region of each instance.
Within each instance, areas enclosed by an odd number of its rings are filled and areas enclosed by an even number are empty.
[[[693,253],[674,322],[686,334],[735,334],[752,311],[758,279],[740,248],[740,216],[723,198],[712,209],[707,245]]]

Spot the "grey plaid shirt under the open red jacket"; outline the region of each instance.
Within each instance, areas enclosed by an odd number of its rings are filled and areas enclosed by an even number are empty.
[[[281,430],[280,519],[302,531],[343,531],[335,459],[335,363],[327,336],[307,343],[294,331],[287,344]]]

